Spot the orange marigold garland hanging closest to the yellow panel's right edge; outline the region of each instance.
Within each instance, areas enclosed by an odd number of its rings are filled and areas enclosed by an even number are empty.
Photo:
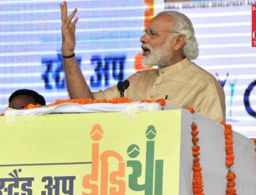
[[[195,110],[193,108],[186,108],[191,113],[195,113]],[[199,130],[197,130],[197,124],[195,122],[192,122],[191,124],[191,135],[192,135],[192,143],[193,147],[192,149],[192,155],[193,155],[193,194],[194,195],[203,195],[203,177],[201,174],[201,164],[199,163],[200,158],[200,147],[198,145],[199,143]]]

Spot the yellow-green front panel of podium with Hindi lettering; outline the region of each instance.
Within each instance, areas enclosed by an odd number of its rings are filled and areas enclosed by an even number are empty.
[[[179,194],[181,110],[0,124],[0,194]]]

